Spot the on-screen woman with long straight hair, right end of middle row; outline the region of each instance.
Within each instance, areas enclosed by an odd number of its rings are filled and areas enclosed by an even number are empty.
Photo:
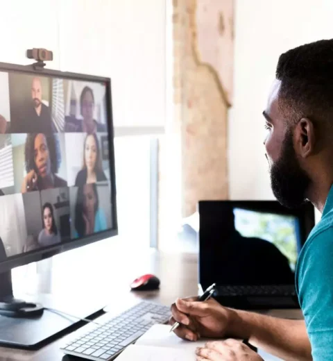
[[[99,139],[96,133],[88,134],[83,145],[83,169],[76,176],[75,185],[106,181],[102,169]]]

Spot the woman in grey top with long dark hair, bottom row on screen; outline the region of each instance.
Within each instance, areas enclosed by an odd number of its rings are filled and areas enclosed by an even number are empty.
[[[53,216],[53,207],[51,203],[45,203],[43,205],[43,229],[38,235],[38,244],[40,246],[51,246],[51,244],[60,243],[60,233],[56,225],[56,221]]]

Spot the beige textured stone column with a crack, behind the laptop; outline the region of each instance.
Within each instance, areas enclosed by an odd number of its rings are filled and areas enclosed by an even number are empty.
[[[228,198],[233,0],[174,0],[174,124],[182,157],[182,216],[200,199]]]

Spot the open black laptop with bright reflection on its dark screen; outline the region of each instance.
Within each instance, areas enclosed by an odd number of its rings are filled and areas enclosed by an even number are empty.
[[[200,201],[200,289],[216,283],[214,299],[243,310],[299,308],[298,255],[314,227],[314,207],[278,201]]]

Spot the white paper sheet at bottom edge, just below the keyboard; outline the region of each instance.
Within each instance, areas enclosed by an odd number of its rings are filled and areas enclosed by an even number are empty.
[[[130,345],[117,361],[195,361],[195,353],[156,346]]]

